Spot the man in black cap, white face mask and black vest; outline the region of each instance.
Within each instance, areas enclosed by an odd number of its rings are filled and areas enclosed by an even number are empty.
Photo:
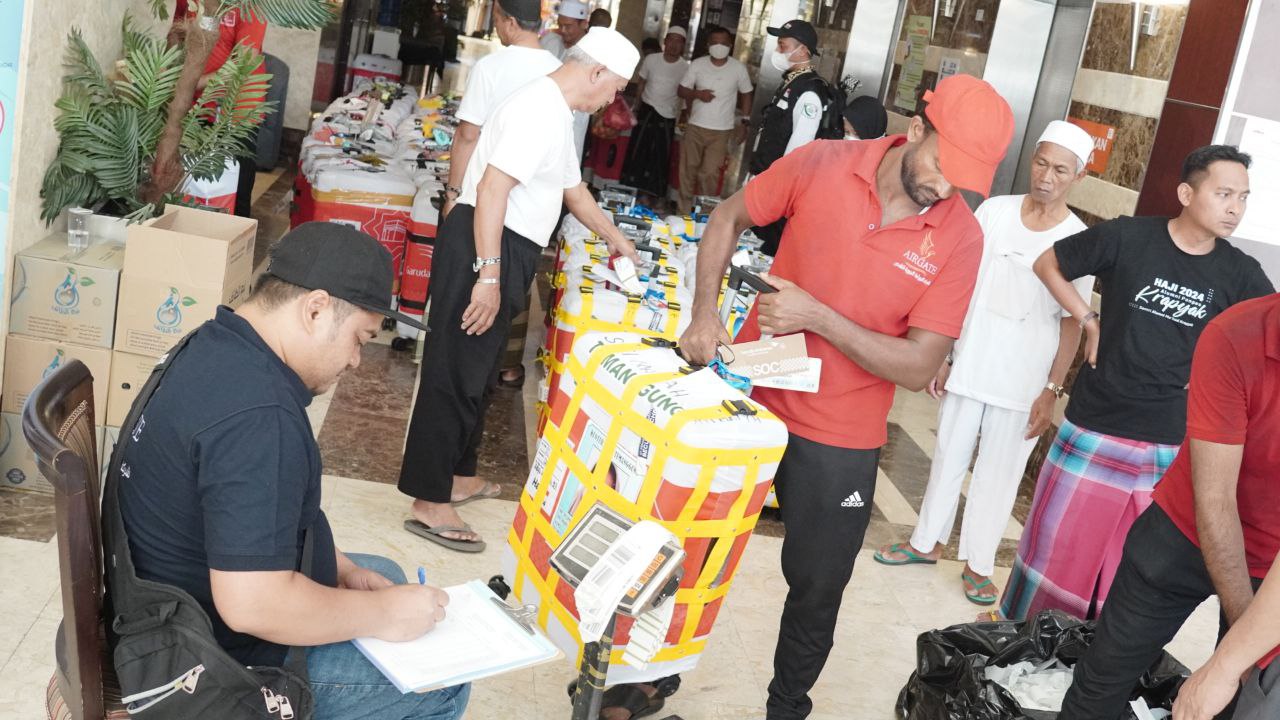
[[[804,20],[788,20],[782,27],[768,28],[768,32],[778,38],[769,61],[782,73],[782,86],[764,106],[760,132],[751,151],[751,176],[763,173],[778,158],[808,142],[844,136],[841,108],[833,102],[836,94],[813,67],[813,59],[818,56],[818,31]],[[824,128],[827,132],[823,132]],[[754,228],[764,241],[764,252],[777,252],[783,227],[786,222],[778,220]]]

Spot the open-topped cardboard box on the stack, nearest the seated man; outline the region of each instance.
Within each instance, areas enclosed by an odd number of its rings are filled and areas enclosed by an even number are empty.
[[[239,305],[252,281],[256,234],[257,220],[175,205],[131,225],[115,350],[159,357],[219,305]]]

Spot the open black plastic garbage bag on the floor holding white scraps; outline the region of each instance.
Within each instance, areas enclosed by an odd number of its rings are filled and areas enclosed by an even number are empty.
[[[1066,665],[1084,655],[1093,641],[1093,623],[1046,610],[1027,621],[970,623],[929,630],[915,641],[916,669],[897,697],[900,720],[1053,720],[1056,712],[1023,710],[987,666],[1050,659]],[[1167,652],[1138,682],[1133,698],[1171,710],[1178,688],[1190,675]],[[1130,712],[1128,715],[1133,717]]]

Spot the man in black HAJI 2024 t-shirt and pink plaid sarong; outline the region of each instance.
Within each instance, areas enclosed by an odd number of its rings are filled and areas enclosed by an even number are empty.
[[[1097,616],[1124,538],[1183,442],[1199,333],[1231,305],[1275,292],[1257,260],[1222,240],[1244,217],[1248,167],[1235,147],[1201,147],[1183,165],[1176,218],[1102,223],[1036,261],[1084,328],[1085,364],[1041,469],[1006,618]],[[1102,283],[1101,316],[1071,287],[1083,275]]]

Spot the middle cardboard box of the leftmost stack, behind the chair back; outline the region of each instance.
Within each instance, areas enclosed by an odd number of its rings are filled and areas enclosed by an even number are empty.
[[[10,334],[4,356],[4,401],[0,411],[22,413],[22,405],[40,380],[72,360],[93,374],[93,416],[106,411],[106,388],[111,377],[111,351],[52,340]]]

